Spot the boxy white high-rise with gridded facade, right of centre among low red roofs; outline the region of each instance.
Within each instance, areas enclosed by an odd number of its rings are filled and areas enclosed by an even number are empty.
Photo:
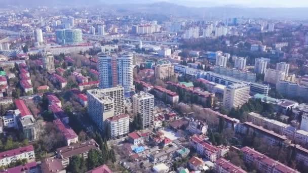
[[[225,87],[223,92],[223,108],[230,110],[240,108],[249,100],[250,85],[246,83],[235,83]]]

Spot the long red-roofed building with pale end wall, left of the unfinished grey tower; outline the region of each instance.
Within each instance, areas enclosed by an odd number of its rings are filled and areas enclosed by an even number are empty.
[[[70,126],[64,125],[60,119],[54,120],[53,123],[62,133],[66,145],[78,142],[78,135],[70,128]]]

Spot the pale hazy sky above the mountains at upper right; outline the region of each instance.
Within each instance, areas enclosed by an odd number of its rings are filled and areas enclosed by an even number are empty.
[[[161,0],[156,0],[161,1]],[[186,6],[225,6],[236,5],[243,7],[308,7],[308,0],[165,0]]]

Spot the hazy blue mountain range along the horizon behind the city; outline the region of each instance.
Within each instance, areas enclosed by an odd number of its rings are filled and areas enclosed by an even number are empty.
[[[168,1],[168,0],[167,0]],[[169,0],[168,2],[175,2]],[[179,0],[186,3],[185,0]],[[206,3],[203,2],[203,3]],[[110,8],[121,9],[136,13],[174,15],[174,16],[198,16],[198,17],[252,17],[252,18],[289,18],[289,19],[308,19],[308,8],[243,8],[237,6],[223,7],[187,7],[172,3],[159,2],[157,0],[0,0],[0,7],[7,5],[14,6],[70,6],[85,7],[106,5]],[[213,4],[211,4],[214,6]]]

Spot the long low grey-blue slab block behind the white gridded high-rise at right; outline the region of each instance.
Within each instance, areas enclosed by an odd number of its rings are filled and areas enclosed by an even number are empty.
[[[245,81],[256,81],[256,73],[252,73],[250,71],[241,71],[236,68],[228,68],[215,66],[214,72],[230,77],[234,77],[236,79],[245,80]]]

